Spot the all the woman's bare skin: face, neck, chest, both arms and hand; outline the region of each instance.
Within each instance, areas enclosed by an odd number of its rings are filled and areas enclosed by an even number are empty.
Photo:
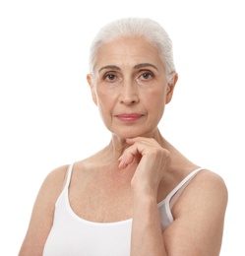
[[[177,74],[167,83],[157,49],[143,38],[122,37],[98,50],[88,82],[112,137],[100,152],[75,163],[69,188],[73,211],[92,222],[133,218],[131,256],[218,255],[227,190],[210,170],[196,175],[172,208],[173,224],[160,228],[157,203],[198,167],[157,128]],[[66,170],[61,166],[44,180],[20,256],[42,255]]]

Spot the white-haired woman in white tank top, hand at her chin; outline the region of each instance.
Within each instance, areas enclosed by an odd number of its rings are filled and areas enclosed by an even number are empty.
[[[157,128],[178,79],[167,33],[150,19],[115,21],[96,35],[90,60],[111,141],[50,172],[19,255],[218,255],[226,186]]]

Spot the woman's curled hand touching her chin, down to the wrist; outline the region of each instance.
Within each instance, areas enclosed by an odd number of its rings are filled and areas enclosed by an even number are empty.
[[[170,154],[154,139],[137,137],[127,139],[130,145],[119,158],[119,168],[125,168],[134,160],[138,162],[135,174],[131,180],[134,190],[157,194],[157,188],[164,170],[170,164]]]

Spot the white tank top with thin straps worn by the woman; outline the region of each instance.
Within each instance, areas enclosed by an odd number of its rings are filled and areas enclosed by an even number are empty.
[[[93,223],[73,212],[68,197],[72,168],[73,164],[68,168],[66,184],[55,204],[53,225],[43,256],[129,256],[132,219],[116,223]],[[171,206],[202,169],[192,171],[158,203],[162,230],[173,222]]]

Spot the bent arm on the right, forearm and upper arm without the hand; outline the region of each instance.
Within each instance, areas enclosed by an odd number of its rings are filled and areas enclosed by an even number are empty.
[[[139,195],[134,206],[132,256],[219,255],[226,202],[223,181],[210,171],[200,172],[173,207],[174,222],[162,234],[155,199]]]

